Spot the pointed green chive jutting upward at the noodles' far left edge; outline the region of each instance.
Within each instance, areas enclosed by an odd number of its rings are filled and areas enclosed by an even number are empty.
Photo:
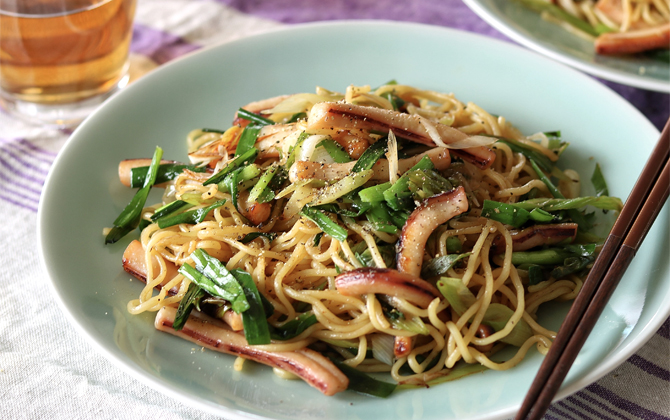
[[[105,236],[105,244],[117,242],[140,224],[144,203],[147,201],[151,187],[156,182],[156,174],[158,173],[158,166],[160,165],[162,157],[163,149],[156,147],[154,156],[151,159],[151,165],[149,165],[149,170],[144,179],[144,185],[135,193],[132,200],[130,200],[130,203],[128,203],[121,214],[114,220],[114,227],[112,227],[109,233],[107,233],[107,236]]]

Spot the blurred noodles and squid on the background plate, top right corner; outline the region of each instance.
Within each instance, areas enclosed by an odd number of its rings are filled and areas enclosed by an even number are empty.
[[[598,54],[650,52],[668,61],[667,0],[521,0],[570,32],[594,41]]]

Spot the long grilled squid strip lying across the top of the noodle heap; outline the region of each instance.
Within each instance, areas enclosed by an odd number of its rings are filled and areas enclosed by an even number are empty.
[[[418,115],[341,102],[322,102],[314,105],[307,120],[308,132],[330,131],[334,127],[384,132],[393,130],[398,137],[427,146],[437,146],[426,123]],[[468,138],[468,135],[462,131],[444,124],[434,124],[431,128],[445,144],[460,142]],[[452,149],[451,152],[481,169],[488,168],[495,160],[495,153],[484,146]]]

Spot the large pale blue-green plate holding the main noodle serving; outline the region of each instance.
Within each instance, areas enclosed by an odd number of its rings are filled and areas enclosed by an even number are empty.
[[[126,304],[142,285],[121,268],[130,238],[104,246],[109,226],[133,195],[120,185],[124,158],[185,160],[193,128],[227,128],[250,101],[344,90],[390,79],[454,92],[526,133],[560,129],[566,156],[589,179],[595,161],[610,191],[625,198],[658,131],[601,84],[509,43],[450,29],[391,22],[295,26],[216,46],[170,63],[113,97],[68,140],[46,182],[38,216],[43,265],[72,324],[105,356],[165,394],[229,419],[494,419],[511,416],[542,357],[382,400],[344,392],[324,397],[302,381],[285,381],[253,364],[201,351],[157,332],[152,315],[130,316]],[[632,147],[634,144],[634,147]],[[158,194],[158,192],[156,192]],[[157,197],[154,196],[154,199]],[[605,309],[560,391],[592,383],[641,346],[667,318],[667,212]],[[541,319],[557,328],[566,311],[547,305]]]

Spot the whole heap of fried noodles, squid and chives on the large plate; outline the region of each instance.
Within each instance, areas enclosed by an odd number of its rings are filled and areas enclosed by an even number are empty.
[[[589,196],[559,169],[559,132],[525,136],[394,82],[253,102],[187,144],[189,163],[156,148],[119,165],[138,191],[105,242],[139,228],[123,267],[146,283],[128,310],[325,395],[385,397],[546,353],[556,333],[538,308],[576,296],[596,212],[622,207],[598,166]],[[153,186],[163,198],[147,204]]]

